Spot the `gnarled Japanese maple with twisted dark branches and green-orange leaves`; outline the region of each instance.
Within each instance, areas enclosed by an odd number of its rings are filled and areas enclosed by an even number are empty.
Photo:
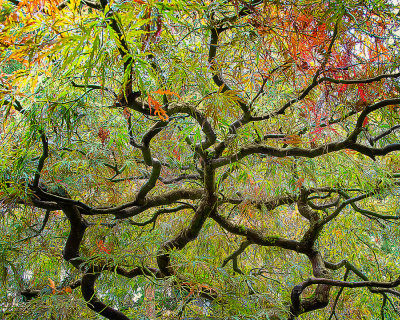
[[[225,257],[214,252],[223,268],[232,260],[237,277],[260,268],[260,257],[246,255],[252,248],[307,259],[312,277],[297,277],[279,311],[266,308],[271,317],[295,319],[332,302],[332,318],[343,288],[361,287],[383,297],[384,316],[387,301],[400,296],[398,272],[369,280],[347,257],[327,262],[321,246],[337,226],[341,234],[352,231],[343,225],[349,212],[397,228],[395,210],[373,208],[397,199],[400,184],[393,6],[378,12],[373,2],[7,3],[23,14],[4,22],[8,38],[0,42],[2,61],[19,68],[1,84],[2,153],[12,155],[11,165],[2,163],[1,199],[14,211],[46,210],[40,229],[18,242],[46,237],[51,215],[63,212],[69,231],[62,256],[79,274],[69,288],[80,288],[91,310],[129,319],[96,292],[107,273],[181,288],[182,310],[192,295],[215,308],[229,302],[229,288],[214,279],[220,271],[207,269],[207,283],[194,281],[177,258],[195,255],[191,248],[201,247],[210,228],[225,235],[224,246],[239,241]],[[33,13],[51,28],[30,21]],[[20,79],[24,73],[31,82]],[[25,154],[13,151],[17,142]],[[344,160],[350,169],[341,167]],[[296,215],[295,232],[275,230],[277,214],[279,221]],[[185,223],[175,228],[172,217]],[[113,259],[123,248],[111,254],[104,240],[97,240],[100,258],[87,250],[100,228],[120,241],[125,227],[140,229],[141,238],[149,225],[173,229],[151,243],[151,258],[124,265]],[[247,259],[239,268],[241,256]],[[245,301],[252,301],[260,290],[250,283],[263,279],[246,281]]]

